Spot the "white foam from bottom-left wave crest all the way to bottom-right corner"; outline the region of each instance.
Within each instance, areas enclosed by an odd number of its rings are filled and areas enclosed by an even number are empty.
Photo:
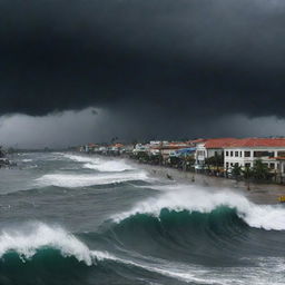
[[[43,223],[26,224],[21,229],[6,229],[0,233],[0,257],[9,252],[16,252],[22,261],[30,259],[39,249],[53,248],[63,257],[75,257],[86,265],[96,265],[98,262],[111,261],[128,266],[135,266],[148,272],[158,273],[168,277],[195,282],[198,284],[283,284],[283,277],[272,279],[272,268],[276,276],[282,275],[284,258],[263,258],[257,261],[258,267],[232,267],[223,272],[219,268],[205,268],[196,265],[173,263],[159,258],[144,256],[119,257],[106,250],[91,250],[75,235],[59,226],[49,226]],[[255,261],[253,261],[255,262]],[[269,269],[268,269],[269,266]],[[244,279],[240,276],[244,274]],[[283,275],[282,275],[283,276]],[[238,279],[237,279],[238,278]]]

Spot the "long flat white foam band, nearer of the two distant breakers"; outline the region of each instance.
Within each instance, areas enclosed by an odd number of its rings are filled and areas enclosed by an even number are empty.
[[[59,187],[86,187],[92,185],[106,185],[114,183],[122,183],[129,180],[146,180],[147,174],[145,171],[136,173],[114,173],[105,175],[73,175],[73,174],[51,174],[43,175],[36,180],[37,186],[59,186]]]

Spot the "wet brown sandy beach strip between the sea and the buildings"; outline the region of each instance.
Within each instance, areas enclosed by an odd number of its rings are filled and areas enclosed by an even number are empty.
[[[118,157],[119,158],[119,157]],[[285,187],[283,185],[275,184],[256,184],[250,183],[249,188],[247,189],[247,183],[237,181],[235,179],[207,176],[203,174],[196,174],[190,171],[183,171],[179,169],[157,166],[157,165],[147,165],[139,164],[136,160],[129,158],[122,158],[134,166],[146,170],[149,176],[155,178],[169,179],[175,183],[188,184],[188,185],[198,185],[203,187],[214,187],[220,189],[230,189],[232,191],[243,194],[250,202],[255,204],[263,205],[274,205],[279,204],[278,197],[285,195]]]

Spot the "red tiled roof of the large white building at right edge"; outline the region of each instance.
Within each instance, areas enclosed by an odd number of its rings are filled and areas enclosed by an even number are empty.
[[[233,140],[228,147],[285,147],[285,138],[243,138]]]

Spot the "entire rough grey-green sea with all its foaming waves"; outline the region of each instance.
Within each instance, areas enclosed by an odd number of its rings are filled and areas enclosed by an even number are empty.
[[[285,284],[285,209],[122,160],[23,154],[0,171],[0,284]]]

